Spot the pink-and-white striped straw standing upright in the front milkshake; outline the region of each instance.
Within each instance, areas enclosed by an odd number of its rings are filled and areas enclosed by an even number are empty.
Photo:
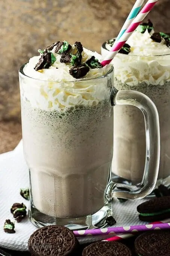
[[[126,43],[128,38],[131,36],[131,34],[134,32],[134,30],[137,28],[137,26],[141,23],[141,21],[144,20],[146,15],[152,10],[153,6],[158,2],[158,0],[148,0],[146,5],[141,9],[141,11],[138,13],[138,15],[135,17],[135,19],[132,21],[132,23],[129,25],[128,29],[126,29],[125,33],[117,40],[113,47],[111,48],[110,52],[106,56],[106,58],[101,62],[102,66],[109,64],[111,60],[114,58],[114,56],[119,52],[119,50],[122,48],[122,46]]]

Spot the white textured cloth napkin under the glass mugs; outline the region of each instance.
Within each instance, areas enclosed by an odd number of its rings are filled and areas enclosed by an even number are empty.
[[[15,222],[14,234],[8,234],[3,231],[3,225],[6,219],[14,221],[10,212],[13,203],[24,203],[29,206],[29,201],[20,195],[20,188],[29,186],[29,172],[23,156],[22,140],[18,146],[10,152],[0,154],[0,247],[26,251],[27,242],[30,235],[36,230],[36,227],[28,218],[22,222]],[[126,201],[120,203],[113,201],[113,216],[117,223],[114,226],[130,226],[146,224],[138,219],[136,207],[144,200]],[[93,238],[86,238],[92,239]],[[89,241],[89,240],[88,240]]]

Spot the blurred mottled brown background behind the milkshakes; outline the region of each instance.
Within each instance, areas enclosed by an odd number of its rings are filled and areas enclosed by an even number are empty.
[[[117,35],[135,0],[0,0],[0,153],[21,139],[18,68],[57,40],[100,52]],[[158,31],[170,32],[170,0],[148,15]]]

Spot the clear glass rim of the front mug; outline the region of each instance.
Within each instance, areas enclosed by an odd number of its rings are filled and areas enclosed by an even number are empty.
[[[27,62],[28,63],[28,62]],[[102,76],[98,76],[98,77],[94,77],[94,78],[79,78],[79,79],[76,79],[76,80],[72,80],[72,81],[53,81],[53,80],[44,80],[44,79],[39,79],[39,78],[33,78],[31,76],[28,76],[24,73],[24,67],[26,66],[26,64],[23,64],[20,69],[18,70],[18,73],[19,75],[23,76],[23,77],[27,77],[27,78],[30,78],[30,79],[33,79],[35,81],[42,81],[42,82],[54,82],[54,83],[75,83],[75,82],[81,82],[81,81],[92,81],[92,80],[97,80],[97,79],[101,79],[101,78],[105,78],[107,77],[111,72],[113,72],[114,68],[113,68],[113,65],[111,64],[108,64],[108,66],[110,67],[109,70]]]

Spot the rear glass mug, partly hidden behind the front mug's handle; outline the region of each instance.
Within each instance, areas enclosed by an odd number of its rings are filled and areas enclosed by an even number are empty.
[[[103,57],[108,53],[105,43],[101,52]],[[117,90],[140,91],[156,105],[160,126],[156,185],[170,186],[170,54],[137,56],[119,53],[111,63]],[[112,178],[135,184],[142,179],[146,155],[143,115],[133,106],[116,106],[114,121]]]

